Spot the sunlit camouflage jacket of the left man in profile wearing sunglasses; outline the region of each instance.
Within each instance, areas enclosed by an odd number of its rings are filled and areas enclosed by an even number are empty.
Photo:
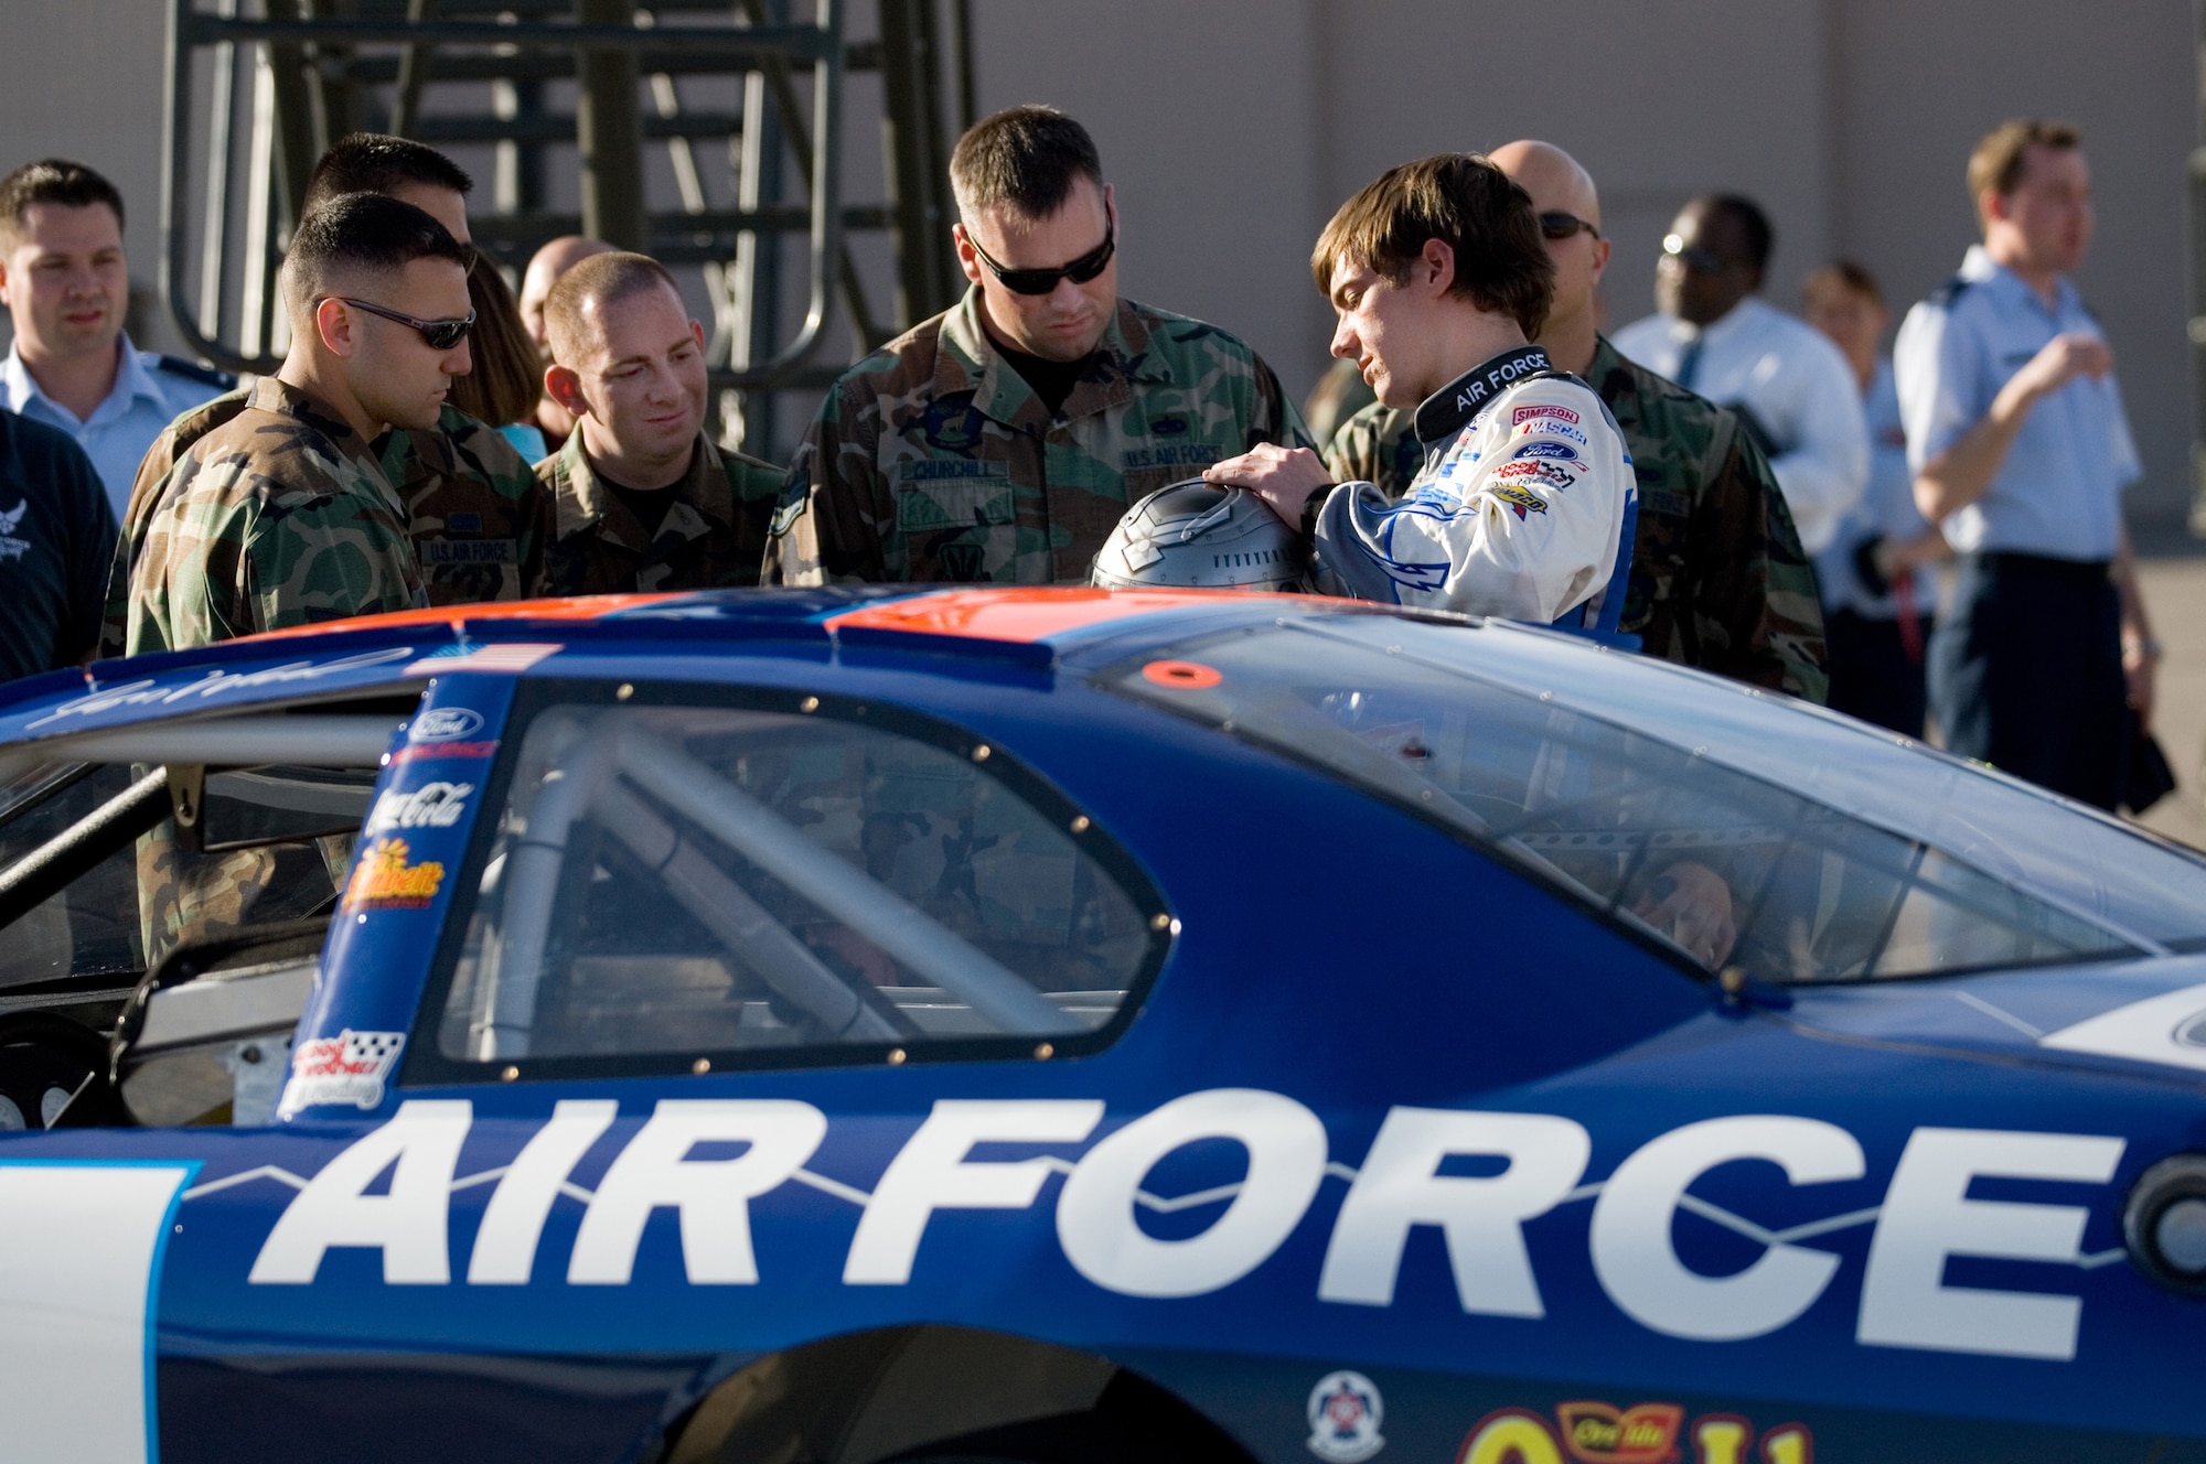
[[[399,503],[368,443],[260,377],[245,410],[168,474],[130,573],[130,655],[426,604]]]

